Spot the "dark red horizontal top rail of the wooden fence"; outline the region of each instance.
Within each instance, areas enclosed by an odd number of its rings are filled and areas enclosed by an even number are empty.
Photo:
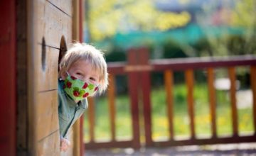
[[[256,65],[255,55],[244,55],[235,57],[191,57],[178,59],[156,59],[149,60],[150,66],[144,67],[151,71],[164,71],[167,69],[185,70],[185,69],[202,69],[202,68],[218,68],[218,67],[234,67],[245,65]],[[141,65],[129,65],[127,69],[127,62],[109,62],[107,64],[108,70],[112,74],[125,74],[127,72],[141,72],[143,67]],[[132,70],[134,69],[134,70]]]

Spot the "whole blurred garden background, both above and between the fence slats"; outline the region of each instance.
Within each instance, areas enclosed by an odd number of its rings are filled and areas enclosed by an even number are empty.
[[[105,52],[107,62],[127,60],[130,48],[147,48],[150,58],[230,57],[256,53],[255,0],[87,0],[84,40]],[[206,72],[194,71],[196,133],[210,136]],[[215,69],[218,135],[232,133],[230,97],[225,68]],[[239,133],[251,133],[250,68],[236,68]],[[174,72],[174,132],[189,135],[184,73]],[[117,139],[132,138],[127,76],[116,77]],[[163,73],[151,74],[153,139],[169,135]],[[95,99],[95,139],[110,140],[106,96]],[[87,113],[87,112],[86,112]],[[90,140],[87,114],[85,143]],[[143,138],[142,138],[143,140]]]

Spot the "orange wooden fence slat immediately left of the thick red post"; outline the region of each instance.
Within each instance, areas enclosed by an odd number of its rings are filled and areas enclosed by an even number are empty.
[[[115,118],[116,118],[116,112],[115,112],[115,79],[114,75],[109,75],[109,82],[110,85],[108,87],[107,91],[107,97],[109,101],[109,108],[110,108],[110,129],[111,129],[111,137],[112,140],[116,140],[116,127],[115,127]]]

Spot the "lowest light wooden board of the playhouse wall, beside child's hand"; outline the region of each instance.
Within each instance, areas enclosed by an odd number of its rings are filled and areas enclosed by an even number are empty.
[[[38,155],[60,155],[60,141],[56,140],[60,140],[58,130],[36,143]]]

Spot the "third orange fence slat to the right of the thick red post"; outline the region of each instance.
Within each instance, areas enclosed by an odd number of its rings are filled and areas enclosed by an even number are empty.
[[[208,95],[209,95],[209,103],[210,103],[210,118],[211,118],[211,128],[212,128],[212,137],[217,137],[216,130],[216,95],[214,89],[214,70],[213,68],[207,69],[207,77],[208,77]]]

